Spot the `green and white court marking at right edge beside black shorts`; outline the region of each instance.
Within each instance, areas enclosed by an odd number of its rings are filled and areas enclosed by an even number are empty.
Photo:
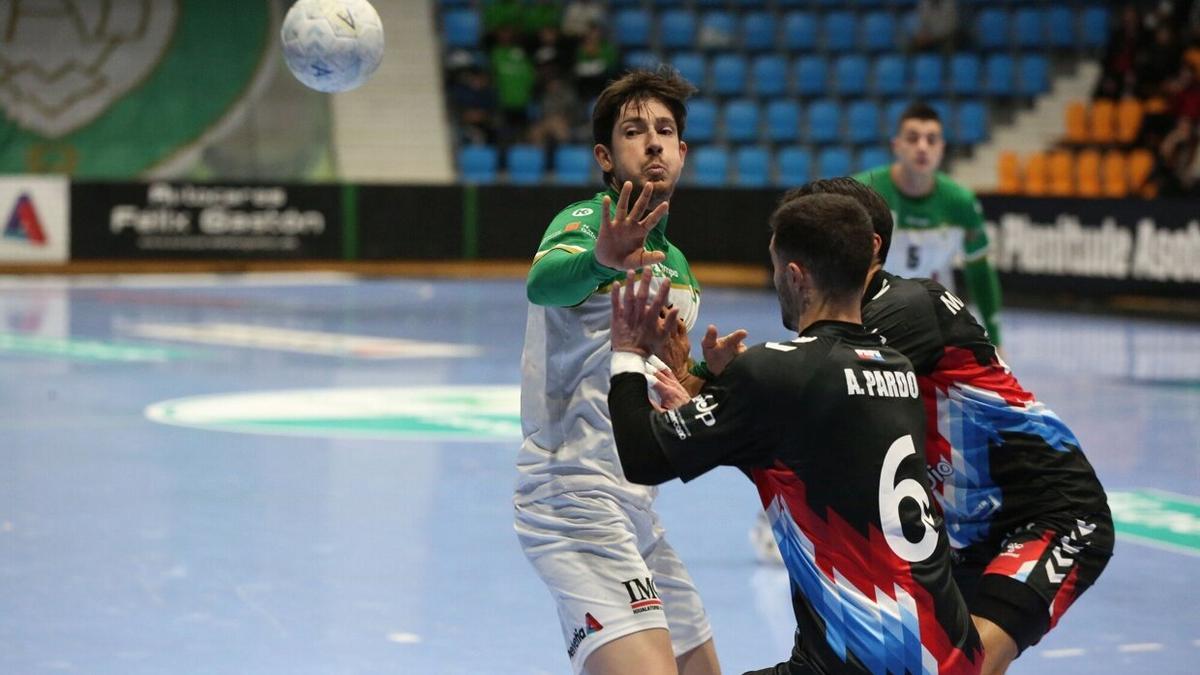
[[[1109,492],[1117,537],[1200,555],[1200,500],[1159,490]]]

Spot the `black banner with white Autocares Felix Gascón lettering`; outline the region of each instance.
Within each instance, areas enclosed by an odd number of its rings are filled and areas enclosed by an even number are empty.
[[[71,258],[341,258],[337,185],[76,183]]]

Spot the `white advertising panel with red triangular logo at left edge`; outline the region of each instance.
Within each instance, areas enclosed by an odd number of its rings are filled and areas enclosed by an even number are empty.
[[[0,262],[65,263],[68,208],[65,177],[0,177]]]

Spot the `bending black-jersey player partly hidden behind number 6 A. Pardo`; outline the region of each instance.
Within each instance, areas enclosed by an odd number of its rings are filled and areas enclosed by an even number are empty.
[[[983,638],[984,673],[1003,673],[1108,565],[1104,488],[1070,429],[1013,377],[962,300],[936,281],[882,270],[893,226],[883,198],[839,178],[782,202],[821,193],[853,197],[871,216],[878,250],[863,323],[917,369],[954,577]]]

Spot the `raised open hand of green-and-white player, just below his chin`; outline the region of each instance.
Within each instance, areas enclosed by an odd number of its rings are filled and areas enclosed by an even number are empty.
[[[668,205],[662,202],[653,211],[642,214],[654,195],[654,184],[647,183],[642,195],[629,207],[629,197],[634,193],[634,184],[625,181],[617,199],[617,211],[612,210],[612,198],[605,196],[600,214],[600,234],[596,235],[596,262],[612,269],[640,269],[666,259],[661,251],[646,250],[646,235],[667,215]]]

